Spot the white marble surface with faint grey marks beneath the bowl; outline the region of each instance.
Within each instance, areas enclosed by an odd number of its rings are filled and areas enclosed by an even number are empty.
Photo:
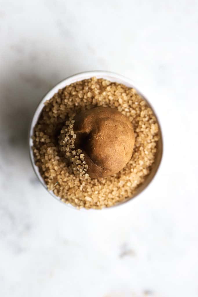
[[[192,0],[1,0],[0,296],[198,296],[197,14]],[[96,69],[150,99],[164,158],[131,203],[82,212],[38,183],[27,129],[51,86]]]

